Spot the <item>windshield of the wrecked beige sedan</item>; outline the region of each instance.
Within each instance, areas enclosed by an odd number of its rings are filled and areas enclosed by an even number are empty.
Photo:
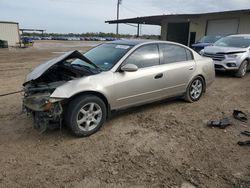
[[[101,70],[110,70],[130,49],[130,45],[101,44],[84,54]]]

